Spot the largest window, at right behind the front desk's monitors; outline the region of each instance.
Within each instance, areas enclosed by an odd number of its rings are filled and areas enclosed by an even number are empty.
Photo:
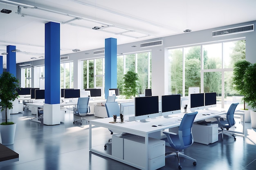
[[[216,92],[218,104],[229,107],[241,98],[232,86],[233,65],[245,60],[245,40],[168,50],[168,93],[188,95],[189,87]]]

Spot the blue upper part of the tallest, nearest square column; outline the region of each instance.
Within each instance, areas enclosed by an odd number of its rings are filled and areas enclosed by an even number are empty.
[[[45,24],[45,103],[60,103],[60,24]]]

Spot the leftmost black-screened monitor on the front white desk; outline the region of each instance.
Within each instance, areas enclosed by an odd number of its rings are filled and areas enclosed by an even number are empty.
[[[148,122],[146,119],[159,116],[158,96],[135,97],[135,120]]]

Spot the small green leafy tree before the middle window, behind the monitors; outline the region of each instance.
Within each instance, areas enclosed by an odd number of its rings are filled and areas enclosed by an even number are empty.
[[[128,71],[124,75],[124,95],[126,98],[132,98],[137,94],[137,81],[139,80],[138,74],[133,71]]]

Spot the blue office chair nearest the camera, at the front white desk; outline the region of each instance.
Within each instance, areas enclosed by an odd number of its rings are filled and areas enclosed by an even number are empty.
[[[192,125],[195,119],[195,116],[198,114],[198,112],[194,113],[186,113],[184,117],[182,118],[182,121],[180,123],[179,127],[179,134],[173,133],[173,132],[163,132],[166,137],[164,139],[167,141],[172,148],[175,149],[175,152],[166,152],[165,158],[171,157],[173,155],[177,155],[178,163],[179,163],[179,169],[182,169],[182,166],[180,166],[180,157],[184,157],[190,160],[193,160],[193,165],[196,166],[196,160],[184,155],[184,153],[180,152],[179,150],[183,150],[191,146],[194,142],[193,135],[192,135]]]

